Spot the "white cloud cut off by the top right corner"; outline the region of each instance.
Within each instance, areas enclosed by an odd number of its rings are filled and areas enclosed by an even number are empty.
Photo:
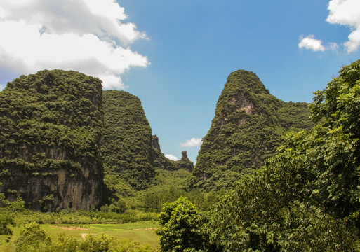
[[[328,3],[329,15],[326,21],[335,25],[346,25],[352,29],[349,41],[345,42],[347,52],[354,52],[360,46],[360,1],[331,0]]]

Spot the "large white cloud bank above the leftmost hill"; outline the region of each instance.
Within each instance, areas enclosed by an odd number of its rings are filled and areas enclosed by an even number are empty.
[[[124,88],[122,73],[149,64],[129,47],[146,34],[125,20],[113,0],[0,0],[0,71],[74,70]]]

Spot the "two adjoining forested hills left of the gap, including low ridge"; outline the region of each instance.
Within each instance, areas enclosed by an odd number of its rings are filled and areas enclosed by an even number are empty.
[[[0,92],[0,137],[1,192],[42,211],[100,207],[161,187],[161,171],[194,167],[186,153],[177,162],[165,158],[138,97],[102,92],[101,80],[74,71],[8,83]]]

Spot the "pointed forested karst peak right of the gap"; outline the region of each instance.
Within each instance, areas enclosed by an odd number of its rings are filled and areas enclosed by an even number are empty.
[[[232,188],[241,174],[261,167],[288,132],[311,127],[307,104],[276,99],[255,73],[235,71],[218,99],[190,185]]]

